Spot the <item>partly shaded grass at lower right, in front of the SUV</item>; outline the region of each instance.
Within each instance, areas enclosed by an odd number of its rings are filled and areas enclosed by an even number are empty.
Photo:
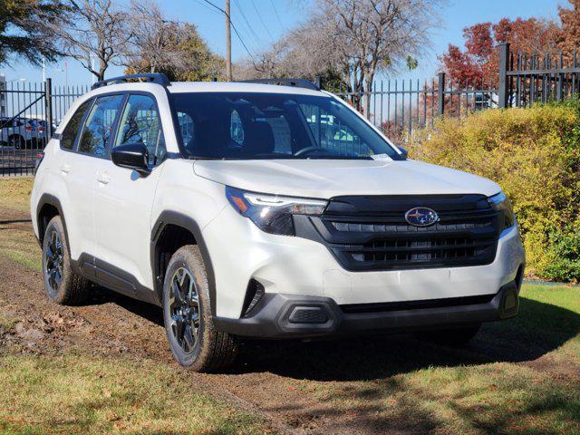
[[[521,295],[519,317],[484,325],[473,349],[419,343],[378,351],[372,366],[353,355],[362,379],[298,388],[337,412],[371,411],[377,429],[412,421],[441,434],[579,434],[580,289],[524,285]]]

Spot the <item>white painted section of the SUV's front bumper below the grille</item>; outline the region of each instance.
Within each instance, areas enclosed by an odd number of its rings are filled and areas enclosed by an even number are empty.
[[[203,229],[216,277],[216,312],[235,321],[244,315],[248,283],[269,295],[330,299],[338,305],[386,304],[491,295],[516,279],[525,264],[517,227],[498,240],[489,265],[353,272],[323,244],[260,230],[231,207]]]

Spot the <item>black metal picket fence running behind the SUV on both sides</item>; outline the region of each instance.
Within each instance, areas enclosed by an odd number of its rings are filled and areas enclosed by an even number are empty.
[[[435,80],[375,82],[369,92],[327,89],[361,111],[392,140],[404,143],[417,128],[441,116],[465,117],[474,111],[527,107],[580,95],[580,53],[511,53],[498,46],[498,77],[492,82],[456,82],[445,73]],[[53,86],[0,82],[0,176],[34,173],[34,162],[74,100],[90,85]]]

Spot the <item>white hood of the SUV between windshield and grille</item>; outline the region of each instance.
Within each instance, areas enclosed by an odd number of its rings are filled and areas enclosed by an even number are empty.
[[[196,160],[199,177],[277,195],[442,195],[500,191],[488,179],[417,160]]]

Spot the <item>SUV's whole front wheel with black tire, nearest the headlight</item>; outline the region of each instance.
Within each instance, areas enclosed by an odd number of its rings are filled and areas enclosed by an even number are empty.
[[[195,372],[216,372],[234,361],[234,337],[216,331],[213,324],[208,275],[197,246],[180,247],[169,260],[163,283],[163,320],[169,347],[179,364]]]

